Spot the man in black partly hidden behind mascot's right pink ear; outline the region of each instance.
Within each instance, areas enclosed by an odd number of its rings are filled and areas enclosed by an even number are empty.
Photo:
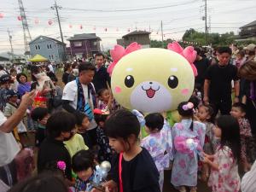
[[[197,69],[197,76],[195,77],[195,89],[203,92],[205,76],[207,73],[207,68],[210,66],[210,61],[206,57],[201,56],[201,49],[195,48],[195,51],[197,53],[194,62]]]

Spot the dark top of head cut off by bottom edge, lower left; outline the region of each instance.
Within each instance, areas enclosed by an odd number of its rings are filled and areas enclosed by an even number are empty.
[[[64,179],[51,174],[39,174],[17,183],[9,192],[68,192]]]

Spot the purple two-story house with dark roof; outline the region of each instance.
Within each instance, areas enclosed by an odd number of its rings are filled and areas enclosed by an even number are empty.
[[[96,33],[76,34],[67,39],[70,42],[70,47],[67,48],[69,58],[89,58],[101,51],[101,38],[96,36]]]

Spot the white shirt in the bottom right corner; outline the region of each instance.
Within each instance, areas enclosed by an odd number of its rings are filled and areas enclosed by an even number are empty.
[[[254,192],[256,191],[256,160],[253,163],[253,166],[250,172],[247,172],[241,178],[241,191],[242,192]]]

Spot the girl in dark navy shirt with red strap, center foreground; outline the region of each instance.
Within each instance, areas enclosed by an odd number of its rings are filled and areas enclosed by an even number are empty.
[[[118,153],[113,156],[112,180],[108,189],[119,191],[160,192],[159,172],[147,149],[138,143],[140,123],[125,109],[112,113],[105,123],[109,145]]]

